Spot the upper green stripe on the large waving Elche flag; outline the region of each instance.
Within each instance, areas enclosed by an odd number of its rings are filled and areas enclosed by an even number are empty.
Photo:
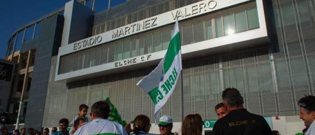
[[[164,74],[169,70],[171,67],[175,56],[178,54],[178,51],[180,50],[180,35],[179,32],[171,39],[171,42],[169,43],[169,48],[166,52],[165,60],[164,60]]]

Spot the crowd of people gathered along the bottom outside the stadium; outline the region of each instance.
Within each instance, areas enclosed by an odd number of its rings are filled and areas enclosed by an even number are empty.
[[[215,122],[213,135],[280,135],[272,131],[264,117],[252,114],[244,109],[243,97],[235,88],[227,88],[222,92],[222,103],[215,106],[218,120]],[[298,101],[300,118],[304,121],[303,134],[315,135],[315,97],[305,96]],[[105,101],[98,101],[91,107],[90,118],[86,117],[89,107],[85,104],[79,106],[79,113],[71,122],[71,130],[67,127],[66,118],[59,120],[59,131],[53,127],[51,132],[45,128],[43,132],[29,128],[14,130],[14,135],[145,135],[150,134],[150,118],[138,115],[131,124],[122,126],[108,119],[110,106]],[[189,114],[182,121],[179,133],[181,135],[201,135],[203,132],[203,119],[199,114]],[[170,116],[162,116],[157,123],[160,135],[177,135],[172,132],[173,120]],[[9,135],[8,128],[2,127],[0,135]]]

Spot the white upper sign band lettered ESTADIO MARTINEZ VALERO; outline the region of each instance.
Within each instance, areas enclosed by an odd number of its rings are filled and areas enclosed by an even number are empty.
[[[198,3],[193,3],[191,5],[175,9],[160,15],[156,15],[135,23],[131,23],[126,26],[122,26],[117,29],[95,35],[90,38],[79,40],[66,46],[61,46],[59,48],[59,56],[63,56],[89,47],[117,40],[119,38],[124,38],[130,35],[134,35],[136,33],[168,25],[174,23],[176,17],[178,17],[178,20],[180,21],[246,1],[250,0],[204,0]]]

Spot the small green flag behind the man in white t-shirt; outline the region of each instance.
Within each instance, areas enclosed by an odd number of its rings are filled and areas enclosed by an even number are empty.
[[[108,115],[108,120],[117,122],[125,127],[127,125],[127,122],[121,119],[121,116],[119,115],[116,107],[112,104],[111,100],[109,100],[109,98],[107,97],[105,102],[107,102],[111,107]]]

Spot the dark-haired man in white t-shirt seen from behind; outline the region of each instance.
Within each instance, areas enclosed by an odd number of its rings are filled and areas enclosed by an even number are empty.
[[[105,101],[99,101],[91,107],[91,119],[88,124],[80,127],[74,135],[128,135],[124,127],[116,122],[107,120],[110,106]]]

